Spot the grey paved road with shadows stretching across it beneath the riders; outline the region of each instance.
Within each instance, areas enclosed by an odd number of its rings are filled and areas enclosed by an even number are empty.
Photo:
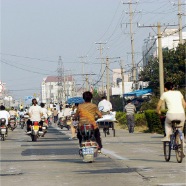
[[[150,186],[186,185],[186,162],[179,164],[173,153],[163,157],[161,135],[129,134],[116,130],[104,137],[104,149],[93,163],[78,155],[78,141],[70,131],[53,126],[44,138],[31,142],[16,128],[1,144],[2,186]]]

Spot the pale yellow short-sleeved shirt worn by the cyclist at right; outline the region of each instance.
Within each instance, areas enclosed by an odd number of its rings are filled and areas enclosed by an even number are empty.
[[[171,90],[164,92],[160,99],[166,102],[167,113],[185,113],[182,105],[183,95],[180,91]]]

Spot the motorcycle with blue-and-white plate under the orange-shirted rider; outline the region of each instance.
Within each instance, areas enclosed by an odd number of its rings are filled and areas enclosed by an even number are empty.
[[[83,125],[79,128],[82,142],[80,144],[79,155],[83,158],[84,162],[92,163],[98,154],[98,144],[94,137],[93,125]]]

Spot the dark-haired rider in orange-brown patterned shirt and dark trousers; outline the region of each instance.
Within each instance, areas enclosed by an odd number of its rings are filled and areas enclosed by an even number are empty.
[[[74,118],[79,118],[79,126],[78,126],[79,128],[83,126],[84,124],[93,125],[95,139],[99,146],[98,152],[101,152],[102,143],[101,143],[99,128],[95,121],[95,116],[98,115],[98,117],[102,117],[102,114],[98,110],[97,105],[91,103],[92,98],[93,98],[93,95],[90,91],[86,91],[83,93],[83,99],[85,100],[85,102],[78,105]],[[77,133],[77,138],[79,139],[79,144],[81,144],[82,136],[79,130]]]

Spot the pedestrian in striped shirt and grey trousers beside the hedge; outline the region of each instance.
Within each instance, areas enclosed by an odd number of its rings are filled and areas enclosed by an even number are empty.
[[[124,108],[124,112],[126,112],[126,118],[127,118],[127,126],[129,133],[134,132],[134,113],[136,112],[136,107],[134,104],[132,104],[131,100],[127,100],[127,105]]]

